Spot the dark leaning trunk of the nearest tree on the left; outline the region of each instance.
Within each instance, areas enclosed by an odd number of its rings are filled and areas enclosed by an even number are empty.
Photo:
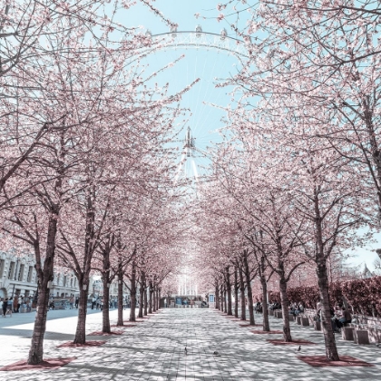
[[[58,214],[59,206],[54,205],[52,207],[52,215],[49,218],[48,222],[43,269],[40,268],[41,260],[38,260],[35,265],[37,269],[37,276],[39,278],[40,288],[38,289],[37,311],[34,318],[32,343],[28,355],[29,365],[40,364],[43,361],[44,357],[44,334],[46,330],[46,314],[50,296],[48,282],[53,280],[54,277],[55,238],[57,236]],[[40,257],[40,253],[38,254],[38,257]]]

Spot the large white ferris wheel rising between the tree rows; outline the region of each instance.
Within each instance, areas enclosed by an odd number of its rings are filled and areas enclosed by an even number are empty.
[[[231,98],[225,87],[218,88],[216,84],[231,76],[232,68],[236,66],[237,70],[249,58],[250,40],[249,37],[245,40],[232,37],[226,29],[220,34],[204,32],[200,25],[194,31],[171,28],[168,33],[147,31],[146,35],[151,39],[151,46],[142,48],[138,54],[144,56],[152,68],[176,62],[178,71],[173,73],[171,69],[171,78],[165,75],[162,78],[162,81],[175,83],[174,91],[200,78],[183,96],[183,104],[190,114],[188,119],[179,121],[181,154],[175,174],[176,181],[187,179],[190,188],[197,190],[200,181],[208,175],[208,144],[219,142],[219,131],[224,127],[224,107]]]

